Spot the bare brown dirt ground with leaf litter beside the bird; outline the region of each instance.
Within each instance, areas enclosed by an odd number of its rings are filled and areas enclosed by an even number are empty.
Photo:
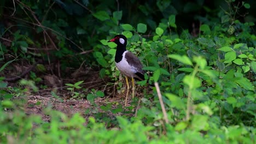
[[[10,67],[3,71],[4,73],[0,74],[0,76],[7,78],[4,82],[7,82],[10,87],[20,87],[18,82],[21,79],[34,79],[33,81],[37,81],[36,79],[40,78],[40,81],[36,82],[36,86],[39,88],[37,92],[34,92],[30,86],[24,86],[27,88],[27,92],[25,93],[27,95],[27,103],[25,105],[27,115],[40,115],[44,121],[50,121],[50,117],[44,114],[44,109],[46,107],[51,107],[51,109],[66,113],[68,116],[72,116],[74,113],[79,112],[84,117],[88,117],[90,115],[85,115],[85,111],[94,107],[94,105],[86,99],[86,95],[92,93],[91,89],[102,91],[104,93],[103,98],[98,97],[94,100],[94,103],[98,107],[108,103],[112,104],[113,109],[119,104],[123,106],[125,105],[125,87],[118,93],[117,82],[111,81],[109,78],[100,78],[100,76],[98,76],[98,71],[83,68],[78,70],[67,69],[65,72],[66,74],[68,73],[69,77],[66,76],[65,79],[63,79],[60,78],[61,76],[56,76],[55,74],[40,73],[36,69],[36,66],[34,68],[31,67],[33,67],[33,65],[20,65],[18,63],[11,64]],[[27,71],[27,73],[22,75],[24,71]],[[31,73],[35,73],[36,77],[32,77]],[[18,80],[8,81],[12,79],[12,77],[19,76],[20,79]],[[84,81],[79,85],[82,87],[81,89],[75,89],[75,92],[80,93],[80,97],[73,98],[71,92],[67,90],[68,86],[66,86],[65,83],[75,83],[78,81]],[[121,82],[125,83],[124,79],[121,80]],[[126,85],[124,84],[124,86]],[[137,94],[136,96],[142,97],[140,94]],[[130,105],[130,103],[131,98],[128,98],[127,105]],[[136,109],[134,111],[136,111]],[[98,112],[104,111],[98,108]],[[113,114],[112,112],[107,114],[108,116],[121,115],[120,113]]]

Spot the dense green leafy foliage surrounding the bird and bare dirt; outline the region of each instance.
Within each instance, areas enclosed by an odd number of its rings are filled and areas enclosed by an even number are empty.
[[[252,28],[255,26],[253,20],[237,19],[241,15],[239,10],[250,10],[252,4],[214,2],[223,5],[220,10],[204,6],[203,1],[117,2],[118,8],[114,7],[116,1],[1,2],[16,7],[14,17],[4,17],[12,20],[12,25],[0,29],[2,37],[12,37],[9,46],[0,43],[3,63],[0,72],[18,61],[4,57],[8,53],[31,62],[40,58],[57,59],[62,69],[77,68],[85,62],[100,69],[102,77],[118,81],[120,73],[114,65],[116,45],[107,41],[121,33],[129,41],[127,49],[136,53],[144,70],[150,73],[145,75],[145,81],[136,83],[144,87],[147,82],[159,83],[169,123],[164,122],[155,88],[145,88],[144,97],[133,99],[128,107],[113,103],[98,105],[96,99],[107,95],[90,89],[86,99],[91,107],[84,113],[67,116],[47,107],[44,114],[50,117],[49,122],[40,116],[27,116],[26,92],[38,91],[35,83],[40,81],[31,73],[33,81],[22,80],[19,87],[9,87],[0,77],[0,141],[255,143],[256,36]],[[129,8],[125,9],[125,4]],[[8,7],[1,7],[0,13],[7,13],[3,10]],[[205,16],[193,15],[193,19],[202,22],[198,32],[182,27],[184,22],[178,14],[201,9],[207,12]],[[93,52],[88,56],[76,53],[90,50]],[[84,97],[78,92],[83,82],[66,84],[72,98]],[[121,93],[123,86],[121,82],[118,84]],[[60,99],[56,93],[51,94]],[[113,105],[117,107],[112,108]],[[89,118],[85,119],[83,114]]]

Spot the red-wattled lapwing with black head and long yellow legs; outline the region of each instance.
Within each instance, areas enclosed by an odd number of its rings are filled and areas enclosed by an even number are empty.
[[[117,52],[115,52],[115,65],[118,70],[125,75],[127,92],[125,98],[125,106],[129,94],[129,82],[127,77],[132,78],[132,98],[134,97],[134,79],[144,80],[144,70],[142,70],[141,61],[133,53],[126,50],[127,38],[124,35],[115,35],[115,37],[108,42],[117,44]]]

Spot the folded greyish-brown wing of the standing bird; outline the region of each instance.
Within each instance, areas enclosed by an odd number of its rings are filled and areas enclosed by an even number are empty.
[[[136,57],[132,52],[127,51],[125,53],[125,59],[129,63],[129,65],[136,69],[137,73],[135,74],[138,76],[138,78],[144,80],[145,72],[144,70],[142,70],[143,66],[141,64],[141,61],[139,61],[139,58]]]

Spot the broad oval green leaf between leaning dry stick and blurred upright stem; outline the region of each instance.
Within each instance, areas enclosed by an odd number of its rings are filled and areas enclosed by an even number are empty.
[[[171,106],[177,109],[185,109],[185,103],[177,95],[172,93],[166,93],[166,97],[171,101]]]

